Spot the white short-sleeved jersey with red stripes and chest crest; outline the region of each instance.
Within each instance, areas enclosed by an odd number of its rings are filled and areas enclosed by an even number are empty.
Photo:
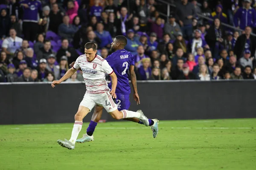
[[[105,79],[105,73],[112,74],[114,71],[108,64],[107,60],[96,55],[92,61],[87,61],[86,55],[81,55],[76,59],[73,68],[81,68],[83,71],[86,93],[102,94],[110,91]]]

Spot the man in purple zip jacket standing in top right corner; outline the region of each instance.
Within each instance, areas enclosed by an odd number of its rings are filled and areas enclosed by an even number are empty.
[[[236,11],[234,24],[237,28],[244,30],[246,26],[256,27],[256,11],[250,5],[251,0],[244,0],[244,6]]]

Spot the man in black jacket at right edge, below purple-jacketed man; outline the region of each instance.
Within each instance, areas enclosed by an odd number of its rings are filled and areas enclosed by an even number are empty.
[[[245,50],[249,50],[251,54],[255,54],[256,50],[256,38],[250,33],[252,32],[252,28],[247,26],[244,30],[245,34],[241,34],[237,40],[234,48],[234,53],[236,54],[237,59],[240,59],[243,56],[243,52]]]

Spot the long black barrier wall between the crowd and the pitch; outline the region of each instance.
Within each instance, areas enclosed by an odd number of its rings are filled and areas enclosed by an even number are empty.
[[[256,117],[256,81],[138,82],[140,105],[132,94],[131,111],[148,118],[221,119]],[[0,85],[0,124],[73,122],[85,93],[84,83]],[[89,122],[92,112],[85,118]],[[102,119],[114,121],[104,111]]]

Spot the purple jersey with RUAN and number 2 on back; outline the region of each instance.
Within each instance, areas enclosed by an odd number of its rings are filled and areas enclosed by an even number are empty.
[[[106,60],[117,77],[116,93],[130,94],[131,88],[127,72],[129,71],[130,65],[134,65],[134,56],[131,52],[122,49],[110,54]],[[109,88],[111,88],[111,83]]]

